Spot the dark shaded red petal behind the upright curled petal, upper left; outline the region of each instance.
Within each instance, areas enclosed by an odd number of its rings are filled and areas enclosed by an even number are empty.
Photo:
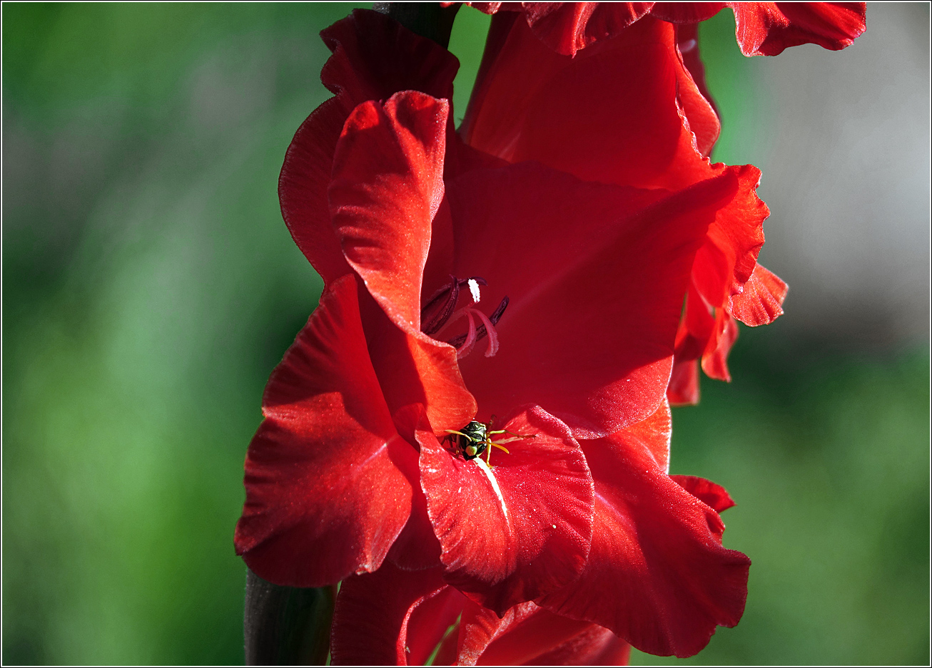
[[[449,98],[459,61],[432,40],[365,9],[353,11],[321,36],[334,52],[324,65],[322,81],[336,97],[297,130],[281,168],[279,198],[295,243],[329,282],[349,271],[326,198],[336,141],[347,116],[358,104],[386,100],[399,90]]]

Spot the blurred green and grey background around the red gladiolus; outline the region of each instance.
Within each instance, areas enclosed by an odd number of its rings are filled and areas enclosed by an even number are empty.
[[[241,467],[321,290],[276,196],[349,5],[3,6],[5,663],[239,663]],[[686,661],[929,659],[929,9],[746,59],[702,27],[716,158],[763,170],[787,314],[674,412],[747,612]],[[450,48],[462,114],[488,19]]]

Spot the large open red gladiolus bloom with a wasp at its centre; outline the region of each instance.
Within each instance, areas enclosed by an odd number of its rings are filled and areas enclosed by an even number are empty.
[[[723,490],[667,475],[665,391],[747,177],[512,164],[452,131],[445,49],[373,12],[322,35],[336,97],[280,194],[325,289],[269,379],[238,553],[278,584],[344,580],[335,661],[616,661],[603,627],[694,654],[740,619],[749,562],[721,547]],[[500,430],[490,464],[450,437],[473,419]]]

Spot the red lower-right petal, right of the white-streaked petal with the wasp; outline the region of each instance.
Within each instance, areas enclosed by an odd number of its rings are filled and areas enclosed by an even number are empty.
[[[630,432],[584,442],[596,481],[592,551],[578,580],[538,601],[651,654],[692,656],[744,612],[750,561],[721,547],[718,514],[665,475]]]

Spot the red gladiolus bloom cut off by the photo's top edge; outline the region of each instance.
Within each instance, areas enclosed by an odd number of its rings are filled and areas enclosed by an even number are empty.
[[[795,2],[468,2],[480,11],[523,11],[531,30],[557,53],[621,34],[645,16],[674,23],[711,19],[725,7],[734,12],[735,37],[746,56],[775,56],[785,48],[817,44],[839,50],[865,29],[865,3]],[[452,5],[452,3],[444,3]]]

